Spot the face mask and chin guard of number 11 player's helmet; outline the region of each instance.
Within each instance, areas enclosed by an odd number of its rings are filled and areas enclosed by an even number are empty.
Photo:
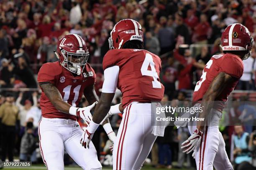
[[[61,55],[64,57],[61,65],[70,72],[80,75],[89,58],[89,51],[77,50],[76,53],[73,53],[62,49]]]

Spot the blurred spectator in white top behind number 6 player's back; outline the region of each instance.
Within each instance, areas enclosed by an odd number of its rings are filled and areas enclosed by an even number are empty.
[[[243,75],[238,82],[239,90],[251,90],[253,88],[252,74],[253,58],[250,56],[246,60],[243,60]]]

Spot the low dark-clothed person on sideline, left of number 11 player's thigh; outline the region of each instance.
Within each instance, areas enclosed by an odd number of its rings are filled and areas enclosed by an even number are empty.
[[[36,148],[36,137],[33,135],[33,123],[27,122],[26,133],[21,138],[20,143],[20,161],[36,163]]]

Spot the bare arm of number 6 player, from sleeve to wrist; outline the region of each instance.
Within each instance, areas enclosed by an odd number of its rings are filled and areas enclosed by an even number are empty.
[[[220,72],[210,84],[210,87],[205,92],[205,95],[202,98],[202,112],[199,113],[199,117],[204,118],[204,121],[197,121],[197,129],[203,131],[205,121],[207,119],[207,113],[212,109],[214,101],[218,95],[232,82],[236,81],[237,78],[232,77],[225,72]]]

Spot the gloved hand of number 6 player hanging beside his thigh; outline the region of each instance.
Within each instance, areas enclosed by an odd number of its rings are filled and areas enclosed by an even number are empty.
[[[203,133],[196,129],[194,133],[182,143],[182,152],[187,154],[191,153],[200,142],[202,135]]]

